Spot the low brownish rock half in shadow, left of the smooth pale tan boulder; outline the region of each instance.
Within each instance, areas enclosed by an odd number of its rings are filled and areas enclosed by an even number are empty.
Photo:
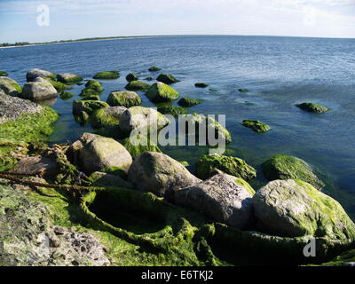
[[[15,166],[14,171],[25,173],[28,176],[56,177],[59,174],[59,164],[50,158],[31,156],[23,158]]]

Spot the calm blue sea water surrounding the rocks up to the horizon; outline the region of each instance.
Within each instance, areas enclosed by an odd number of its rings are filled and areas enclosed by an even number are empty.
[[[326,193],[355,216],[355,40],[267,36],[183,36],[65,43],[0,50],[0,70],[25,83],[29,69],[70,72],[90,79],[99,71],[119,70],[122,77],[101,81],[102,100],[110,91],[124,90],[125,75],[141,78],[158,74],[151,66],[175,75],[181,96],[203,99],[191,113],[226,114],[233,135],[229,154],[260,170],[273,154],[296,155],[309,162],[326,180]],[[206,82],[210,88],[196,89]],[[247,88],[248,93],[240,93]],[[83,86],[71,91],[75,98]],[[154,106],[140,93],[143,106]],[[72,101],[58,99],[53,108],[61,117],[52,142],[74,141],[90,126],[76,124]],[[331,108],[327,114],[308,114],[295,104],[304,101]],[[251,103],[251,104],[250,104]],[[173,103],[174,105],[177,102]],[[268,123],[260,135],[241,126],[244,119]],[[195,162],[205,147],[166,147],[173,158]],[[253,182],[265,183],[263,174]]]

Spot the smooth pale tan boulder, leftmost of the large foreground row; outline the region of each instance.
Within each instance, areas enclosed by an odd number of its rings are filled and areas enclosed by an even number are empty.
[[[91,174],[107,167],[119,167],[129,170],[132,163],[130,153],[113,138],[84,133],[69,151],[72,160],[85,173]]]

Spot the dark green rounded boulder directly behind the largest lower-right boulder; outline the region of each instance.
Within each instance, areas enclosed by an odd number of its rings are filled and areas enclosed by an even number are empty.
[[[324,183],[317,177],[311,166],[301,159],[286,154],[277,154],[262,164],[268,180],[300,179],[321,189]]]

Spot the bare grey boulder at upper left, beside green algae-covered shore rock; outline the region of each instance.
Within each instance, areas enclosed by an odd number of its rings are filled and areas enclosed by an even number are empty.
[[[30,82],[25,83],[19,97],[32,101],[41,101],[46,99],[56,99],[58,97],[58,92],[49,82]]]

